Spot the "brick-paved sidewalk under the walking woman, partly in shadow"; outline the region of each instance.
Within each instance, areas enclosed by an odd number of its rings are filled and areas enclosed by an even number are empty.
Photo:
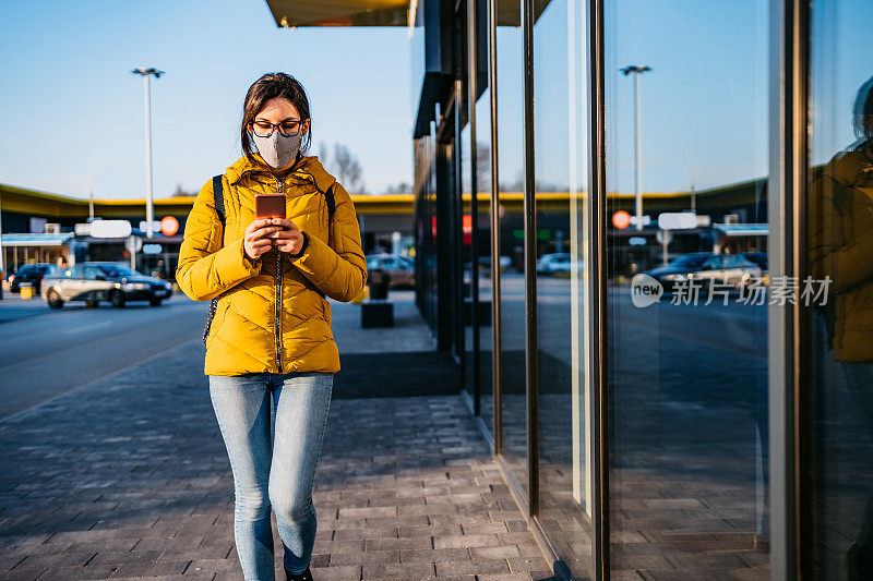
[[[242,579],[202,361],[192,341],[0,422],[0,580]],[[459,396],[334,399],[313,498],[316,581],[551,578]]]

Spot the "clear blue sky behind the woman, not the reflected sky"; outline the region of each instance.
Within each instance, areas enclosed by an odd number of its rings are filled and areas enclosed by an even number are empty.
[[[152,80],[155,196],[200,187],[242,155],[246,90],[297,76],[313,142],[347,145],[368,192],[411,181],[409,51],[398,28],[276,26],[263,0],[0,2],[0,182],[86,197],[142,197]]]

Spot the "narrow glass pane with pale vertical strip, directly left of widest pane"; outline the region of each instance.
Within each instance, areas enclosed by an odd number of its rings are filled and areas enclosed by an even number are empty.
[[[537,5],[534,24],[539,522],[573,574],[591,574],[585,373],[584,2]]]

